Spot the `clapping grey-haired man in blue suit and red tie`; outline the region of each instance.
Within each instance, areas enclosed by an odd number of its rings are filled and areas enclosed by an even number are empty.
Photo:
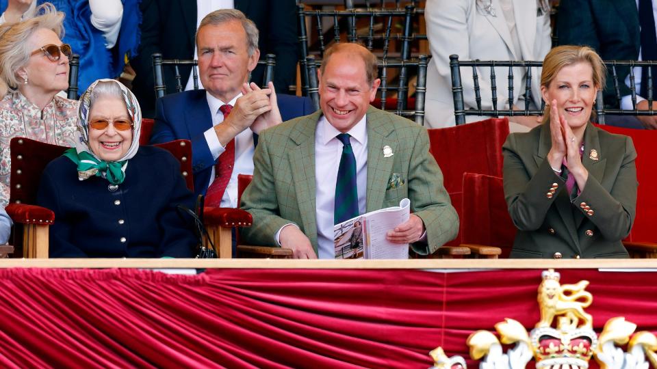
[[[205,90],[157,100],[151,143],[192,141],[194,192],[209,206],[237,207],[237,174],[253,174],[257,134],[313,112],[308,98],[248,85],[259,58],[258,30],[239,10],[211,12],[196,33]]]

